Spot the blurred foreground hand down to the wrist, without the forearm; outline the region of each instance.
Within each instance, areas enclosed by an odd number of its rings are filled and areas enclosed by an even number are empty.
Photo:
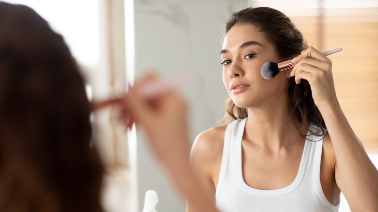
[[[156,81],[158,79],[153,75],[136,81],[124,104],[131,119],[145,129],[157,157],[163,164],[177,168],[182,163],[189,163],[188,108],[173,91],[143,98],[140,92],[143,86]]]

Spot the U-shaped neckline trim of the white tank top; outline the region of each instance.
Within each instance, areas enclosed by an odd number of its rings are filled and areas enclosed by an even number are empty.
[[[299,183],[301,182],[303,175],[304,175],[304,170],[306,168],[307,160],[308,160],[308,155],[310,151],[310,141],[308,139],[305,140],[304,148],[303,148],[303,153],[301,156],[300,160],[300,165],[298,169],[298,173],[296,178],[292,183],[289,185],[279,188],[279,189],[272,189],[272,190],[263,190],[263,189],[256,189],[251,186],[249,186],[243,179],[243,173],[242,173],[242,159],[241,159],[241,148],[242,148],[242,139],[243,139],[243,134],[244,134],[244,128],[245,128],[245,123],[246,123],[247,118],[241,120],[239,122],[239,126],[237,128],[236,132],[236,148],[238,148],[238,151],[236,151],[236,179],[237,183],[239,186],[244,189],[246,192],[251,193],[251,194],[256,194],[256,195],[265,195],[265,196],[272,196],[272,195],[283,195],[287,194],[291,191],[293,191],[295,188],[298,187]],[[309,134],[308,134],[309,135]]]

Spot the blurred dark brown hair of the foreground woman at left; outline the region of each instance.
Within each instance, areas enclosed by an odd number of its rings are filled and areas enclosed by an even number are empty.
[[[90,102],[63,37],[4,2],[0,29],[0,211],[102,211]]]

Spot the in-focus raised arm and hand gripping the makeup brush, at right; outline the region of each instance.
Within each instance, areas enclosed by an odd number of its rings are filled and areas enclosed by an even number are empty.
[[[308,57],[316,58],[316,60]],[[331,61],[310,47],[299,55],[292,76],[306,79],[326,123],[335,152],[335,178],[352,211],[378,211],[378,171],[354,134],[336,98]]]

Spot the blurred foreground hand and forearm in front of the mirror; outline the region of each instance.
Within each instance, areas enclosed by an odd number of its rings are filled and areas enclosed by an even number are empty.
[[[189,167],[186,103],[172,91],[154,99],[143,99],[138,89],[143,86],[143,81],[149,80],[157,79],[149,77],[135,83],[135,88],[126,96],[124,105],[128,115],[145,129],[156,157],[182,197],[188,199],[193,211],[218,212]]]

